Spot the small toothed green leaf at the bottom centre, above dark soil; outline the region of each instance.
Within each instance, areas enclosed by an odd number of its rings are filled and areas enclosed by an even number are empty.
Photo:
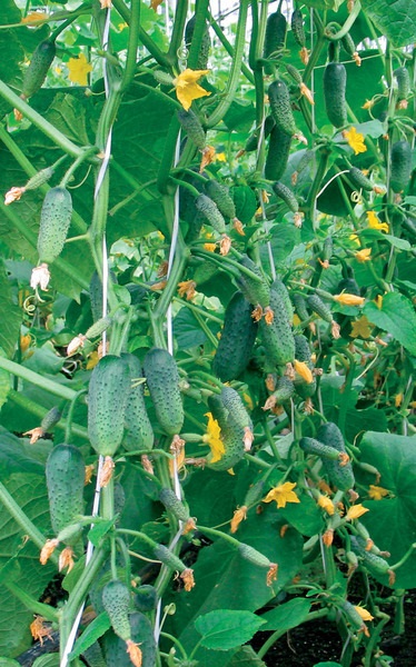
[[[199,616],[195,627],[202,635],[201,646],[228,650],[249,641],[264,623],[251,611],[217,609]]]

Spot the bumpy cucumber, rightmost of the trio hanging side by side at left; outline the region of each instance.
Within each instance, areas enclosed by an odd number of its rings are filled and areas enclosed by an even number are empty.
[[[174,357],[167,350],[153,348],[145,357],[143,370],[159,426],[168,436],[179,434],[184,406]]]

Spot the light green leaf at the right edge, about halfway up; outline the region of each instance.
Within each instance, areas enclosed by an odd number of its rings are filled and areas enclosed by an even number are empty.
[[[370,322],[390,334],[412,355],[416,355],[416,313],[409,299],[398,292],[388,292],[383,297],[382,308],[369,301],[363,313]]]

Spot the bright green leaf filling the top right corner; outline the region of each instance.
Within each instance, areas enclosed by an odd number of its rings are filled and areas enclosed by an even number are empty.
[[[361,0],[366,14],[394,47],[416,40],[416,7],[408,0]]]

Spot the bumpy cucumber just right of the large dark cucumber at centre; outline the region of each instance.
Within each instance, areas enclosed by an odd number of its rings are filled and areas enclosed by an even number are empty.
[[[267,365],[273,369],[294,361],[295,339],[284,301],[275,291],[270,291],[270,308],[275,313],[273,322],[267,325],[261,319],[259,335],[266,349]]]

